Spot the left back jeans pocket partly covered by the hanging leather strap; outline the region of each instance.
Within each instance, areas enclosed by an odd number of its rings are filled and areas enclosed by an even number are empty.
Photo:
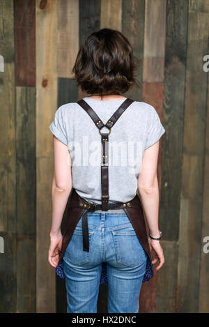
[[[88,231],[89,236],[89,252],[83,250],[83,233],[82,231],[75,230],[72,234],[72,238],[68,243],[68,247],[65,250],[63,259],[75,264],[76,266],[87,264],[89,262],[91,252],[91,242],[93,237],[93,231]]]

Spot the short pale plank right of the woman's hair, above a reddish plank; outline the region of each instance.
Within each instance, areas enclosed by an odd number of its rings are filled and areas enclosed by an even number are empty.
[[[163,82],[167,1],[145,3],[143,81]]]

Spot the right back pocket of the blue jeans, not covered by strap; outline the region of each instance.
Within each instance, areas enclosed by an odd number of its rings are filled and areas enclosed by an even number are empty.
[[[135,231],[112,231],[117,262],[125,266],[142,264],[147,254]]]

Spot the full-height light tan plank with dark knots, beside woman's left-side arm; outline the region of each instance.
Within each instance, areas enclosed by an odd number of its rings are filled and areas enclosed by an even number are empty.
[[[56,272],[47,260],[52,220],[52,134],[57,103],[57,1],[36,1],[36,311],[55,312]]]

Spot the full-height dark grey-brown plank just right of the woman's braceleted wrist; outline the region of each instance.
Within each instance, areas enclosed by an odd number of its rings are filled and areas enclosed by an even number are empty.
[[[164,68],[160,229],[165,265],[157,273],[157,312],[176,312],[180,176],[183,156],[183,116],[187,50],[187,1],[167,1],[166,56]],[[172,248],[173,247],[173,248]],[[172,253],[169,253],[169,251]],[[177,254],[176,254],[177,252]],[[169,270],[171,267],[171,270]],[[169,274],[167,276],[167,274]],[[169,282],[167,277],[169,277]],[[169,292],[169,303],[165,301]]]

